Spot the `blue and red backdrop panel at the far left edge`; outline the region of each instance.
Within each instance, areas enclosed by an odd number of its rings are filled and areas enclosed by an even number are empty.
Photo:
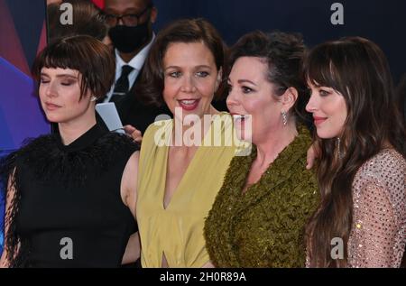
[[[32,78],[14,65],[18,58],[28,67],[40,46],[45,19],[44,0],[0,0],[0,158],[17,149],[27,137],[50,132]],[[9,19],[9,20],[8,20]],[[5,28],[11,27],[11,28]],[[5,31],[5,29],[10,29]],[[15,42],[17,39],[17,42]],[[22,50],[16,44],[21,45]],[[4,52],[4,53],[3,53]],[[10,56],[14,55],[14,56]],[[7,57],[8,56],[8,57]],[[1,186],[0,186],[1,188]],[[5,199],[0,189],[0,254],[3,246]]]

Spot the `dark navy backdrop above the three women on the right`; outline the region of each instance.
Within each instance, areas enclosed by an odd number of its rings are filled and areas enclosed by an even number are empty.
[[[376,42],[388,57],[395,81],[406,72],[404,0],[154,0],[155,31],[182,17],[204,17],[231,45],[253,30],[300,32],[309,47],[343,36]],[[334,3],[344,5],[344,25],[330,22]]]

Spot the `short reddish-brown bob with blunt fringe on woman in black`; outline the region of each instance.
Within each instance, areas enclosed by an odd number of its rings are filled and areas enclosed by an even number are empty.
[[[113,54],[104,43],[86,35],[62,38],[38,54],[32,66],[38,84],[42,68],[78,70],[80,99],[88,92],[97,99],[106,97],[115,80]]]

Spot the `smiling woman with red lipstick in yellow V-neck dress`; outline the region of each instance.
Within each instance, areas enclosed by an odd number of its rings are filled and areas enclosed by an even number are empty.
[[[146,60],[137,93],[174,116],[143,135],[136,203],[143,267],[210,265],[204,219],[237,150],[231,116],[211,105],[224,51],[210,23],[181,20],[160,32]]]

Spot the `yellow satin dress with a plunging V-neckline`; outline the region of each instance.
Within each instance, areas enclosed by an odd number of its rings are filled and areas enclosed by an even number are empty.
[[[136,204],[143,267],[161,267],[163,255],[169,267],[201,267],[209,262],[204,222],[231,159],[246,151],[246,144],[242,147],[235,139],[229,114],[220,113],[208,124],[208,133],[166,209],[163,198],[173,120],[154,123],[143,135]]]

